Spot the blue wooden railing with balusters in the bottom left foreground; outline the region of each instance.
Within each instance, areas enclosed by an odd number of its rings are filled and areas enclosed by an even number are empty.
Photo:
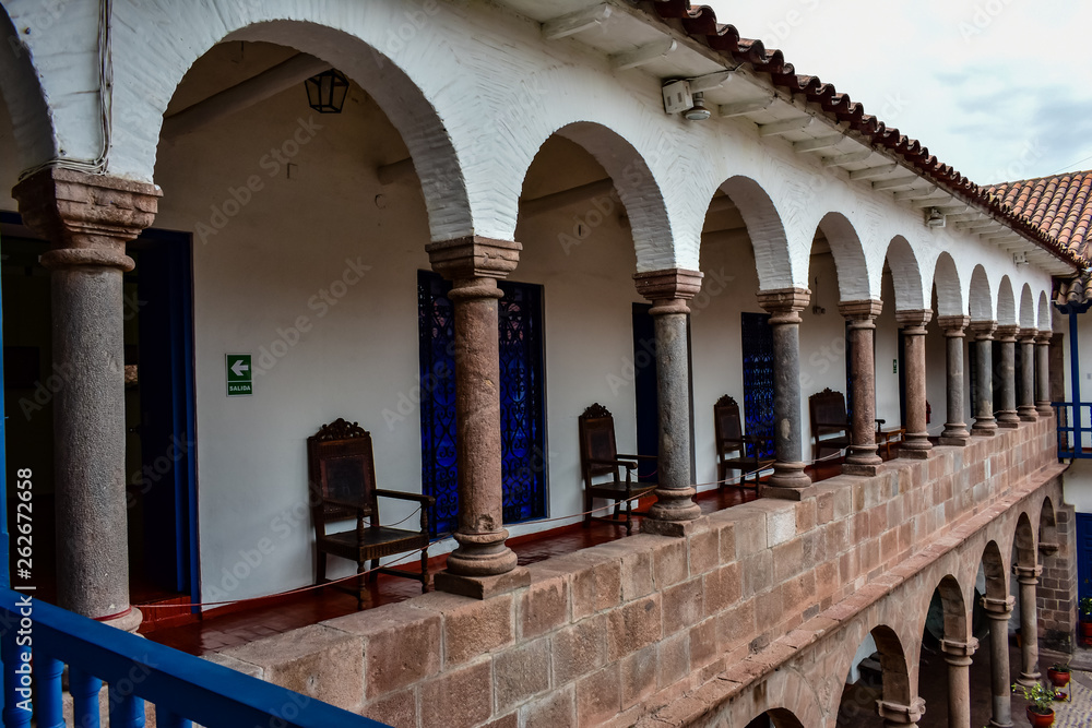
[[[0,588],[5,728],[63,728],[61,673],[69,667],[74,726],[98,728],[109,684],[110,728],[383,728],[313,697],[263,682],[112,626]],[[32,695],[34,702],[32,703]]]

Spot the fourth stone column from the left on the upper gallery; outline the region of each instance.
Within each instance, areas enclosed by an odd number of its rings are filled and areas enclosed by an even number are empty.
[[[811,300],[807,288],[761,290],[758,303],[770,313],[773,329],[773,428],[776,461],[768,484],[760,486],[764,498],[800,500],[814,492],[811,478],[804,473],[803,427],[800,425],[800,311]]]

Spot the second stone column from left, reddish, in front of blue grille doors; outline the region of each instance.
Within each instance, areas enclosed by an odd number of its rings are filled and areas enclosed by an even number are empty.
[[[522,246],[478,236],[426,246],[432,270],[451,281],[455,318],[455,461],[459,546],[436,588],[485,598],[530,583],[505,544],[500,470],[497,279],[515,270]]]

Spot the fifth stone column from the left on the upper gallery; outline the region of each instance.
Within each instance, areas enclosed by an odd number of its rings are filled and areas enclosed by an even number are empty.
[[[853,348],[853,425],[850,452],[842,465],[848,475],[876,475],[883,461],[876,453],[876,369],[873,360],[873,332],[882,301],[867,299],[843,301],[838,310],[850,322]]]

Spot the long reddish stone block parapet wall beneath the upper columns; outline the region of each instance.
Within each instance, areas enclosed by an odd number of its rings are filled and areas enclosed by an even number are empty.
[[[890,623],[916,687],[939,580],[973,585],[988,540],[1010,566],[1019,515],[1038,524],[1044,494],[1061,503],[1051,425],[824,480],[815,499],[734,506],[685,538],[640,534],[554,558],[529,566],[529,587],[484,601],[430,593],[218,659],[415,728],[698,723],[771,679],[783,693],[732,709],[776,706],[795,689],[774,669],[794,661],[812,695],[799,709],[818,711],[804,725],[821,725],[875,626],[864,614]]]

